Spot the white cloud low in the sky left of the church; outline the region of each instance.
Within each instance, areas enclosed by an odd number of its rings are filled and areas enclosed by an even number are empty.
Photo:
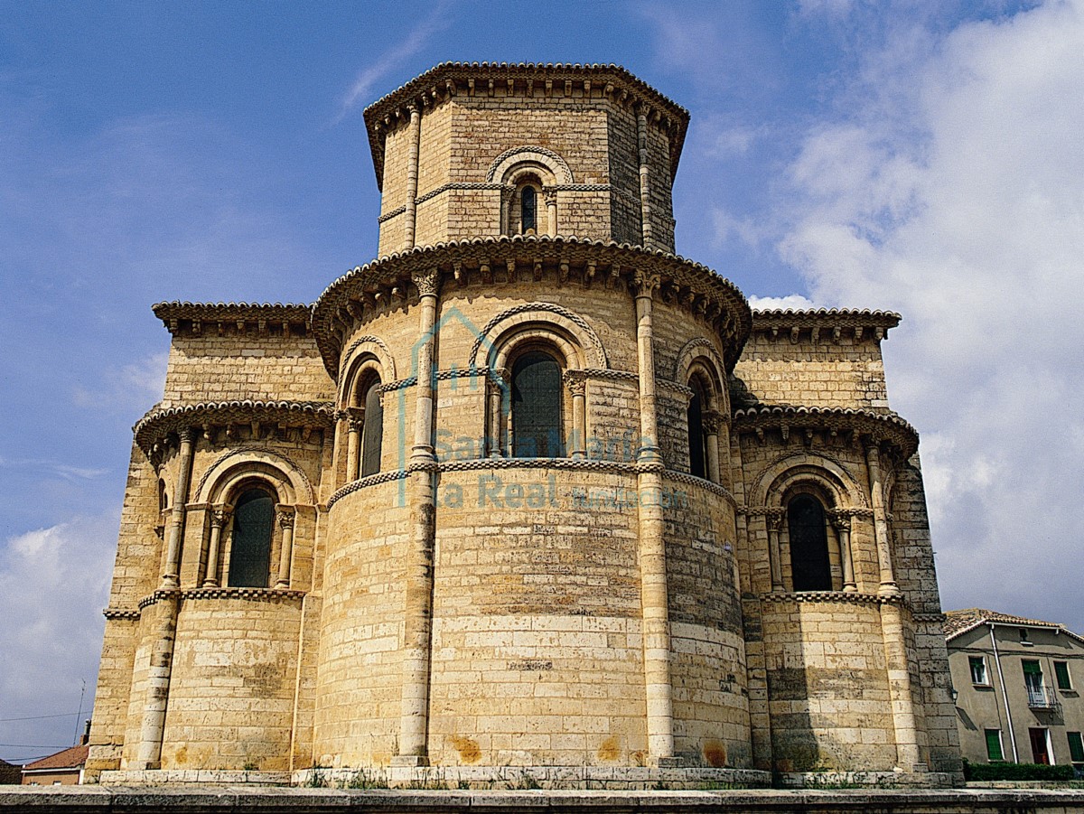
[[[3,718],[56,715],[0,723],[0,741],[64,747],[76,731],[81,683],[82,718],[90,718],[101,653],[117,516],[76,517],[0,544],[0,698]],[[49,694],[42,693],[49,687]],[[0,750],[2,757],[52,749]]]

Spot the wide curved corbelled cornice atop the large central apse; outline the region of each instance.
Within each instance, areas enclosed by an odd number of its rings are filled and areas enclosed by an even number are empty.
[[[446,290],[468,283],[499,285],[509,273],[546,286],[628,289],[636,274],[654,274],[661,284],[661,301],[686,308],[719,332],[727,371],[737,362],[752,326],[749,303],[734,283],[679,255],[581,237],[473,237],[387,255],[327,286],[312,307],[312,332],[332,378],[338,377],[345,334],[370,313],[383,312],[408,293],[414,296],[411,275],[418,269],[439,272]]]

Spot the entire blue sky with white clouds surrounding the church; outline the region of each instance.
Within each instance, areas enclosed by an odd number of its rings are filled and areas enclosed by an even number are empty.
[[[0,0],[0,757],[90,702],[151,305],[372,259],[361,112],[448,60],[615,62],[688,108],[682,255],[904,314],[945,607],[1084,632],[1079,3]]]

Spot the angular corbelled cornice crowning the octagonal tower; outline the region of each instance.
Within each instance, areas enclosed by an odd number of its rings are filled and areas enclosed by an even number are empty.
[[[572,89],[592,98],[615,100],[650,109],[653,120],[670,133],[670,176],[678,172],[688,111],[659,93],[628,69],[615,64],[443,62],[411,79],[365,108],[376,185],[384,183],[385,133],[410,119],[409,107],[425,111],[455,95],[492,95],[496,87],[503,95],[530,94],[542,98],[554,93],[570,95]],[[509,93],[511,91],[511,93]],[[598,95],[595,95],[595,94]]]

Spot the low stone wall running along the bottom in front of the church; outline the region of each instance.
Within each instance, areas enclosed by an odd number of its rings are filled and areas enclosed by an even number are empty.
[[[128,814],[146,812],[245,812],[246,814],[337,814],[362,807],[370,814],[505,814],[544,810],[552,814],[999,814],[1084,812],[1084,790],[804,790],[721,791],[444,791],[335,790],[305,788],[126,788],[105,786],[13,786],[0,791],[0,811],[35,814]]]

